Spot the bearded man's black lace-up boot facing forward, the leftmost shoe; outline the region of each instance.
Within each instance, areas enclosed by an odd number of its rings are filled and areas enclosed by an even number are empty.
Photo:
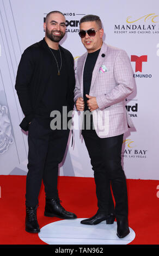
[[[26,231],[29,233],[39,233],[40,228],[36,217],[36,209],[33,207],[26,207]]]

